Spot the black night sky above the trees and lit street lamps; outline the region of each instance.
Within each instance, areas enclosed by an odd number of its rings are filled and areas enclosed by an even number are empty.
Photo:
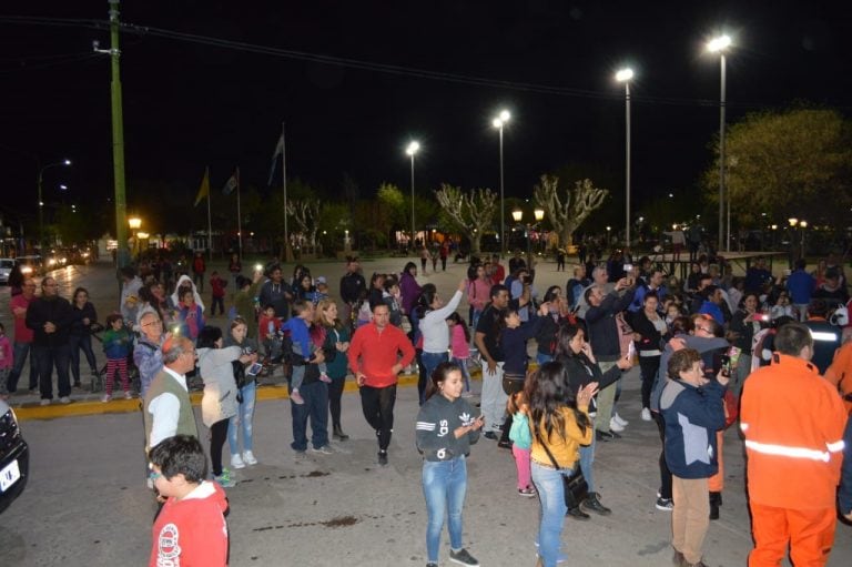
[[[559,94],[460,84],[344,68],[152,34],[122,36],[128,200],[150,199],[141,180],[192,198],[204,166],[221,188],[234,165],[266,184],[287,124],[290,176],[327,196],[344,172],[362,194],[383,181],[408,189],[412,138],[417,185],[498,186],[503,107],[506,192],[528,196],[538,176],[565,163],[597,163],[622,183],[623,90],[612,73],[630,63],[636,202],[696,186],[718,132],[719,60],[704,41],[728,32],[729,121],[797,100],[852,108],[846,71],[852,36],[842,2],[124,1],[121,20],[307,54],[486,78]],[[36,160],[51,170],[45,200],[111,194],[110,65],[91,54],[105,30],[22,26],[8,16],[106,20],[105,0],[7,2],[0,8],[0,165],[3,207],[32,213]],[[79,57],[78,57],[79,55]],[[276,185],[280,185],[280,178]],[[623,191],[621,184],[610,186]],[[142,194],[140,194],[142,193]],[[58,198],[57,198],[58,199]],[[166,201],[168,202],[168,201]],[[639,205],[641,206],[641,205]]]

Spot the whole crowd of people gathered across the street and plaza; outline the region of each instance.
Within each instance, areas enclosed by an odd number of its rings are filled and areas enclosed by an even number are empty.
[[[415,428],[424,457],[428,565],[438,563],[445,516],[450,560],[478,565],[460,534],[465,459],[481,434],[511,449],[518,495],[538,497],[538,560],[552,567],[565,559],[566,518],[588,522],[592,514],[611,514],[595,483],[595,449],[598,443],[618,443],[629,426],[619,415],[621,378],[638,361],[639,417],[655,422],[660,436],[660,485],[649,498],[672,513],[674,565],[704,565],[704,534],[722,506],[724,431],[738,418],[749,455],[755,543],[750,565],[777,565],[788,546],[797,564],[828,558],[844,438],[846,450],[852,448],[846,379],[852,305],[833,259],[814,273],[800,261],[780,277],[758,259],[743,277],[734,277],[722,259],[697,255],[681,282],[647,256],[633,263],[619,252],[606,263],[592,255],[588,265],[572,266],[565,287],[541,293],[535,266],[515,254],[506,271],[495,255],[470,259],[467,276],[445,295],[435,284],[418,283],[414,262],[398,274],[367,280],[358,260],[348,257],[339,301],[328,295],[325,277],[312,276],[306,266],[295,266],[287,280],[283,267],[271,263],[256,266],[250,279],[235,261],[230,280],[214,272],[209,282],[214,304],[233,283],[224,328],[205,318],[203,277],[182,275],[166,295],[154,274],[143,280],[131,267],[121,272],[120,311],[106,320],[104,401],[116,375],[124,395],[132,396],[126,376],[132,360],[149,478],[171,503],[164,513],[176,514],[176,502],[197,490],[203,496],[196,497],[211,502],[205,514],[226,509],[222,489],[236,484],[231,469],[258,462],[252,422],[257,376],[268,366],[281,365],[287,377],[291,447],[298,457],[307,450],[331,454],[332,438],[348,439],[341,401],[352,374],[376,433],[379,466],[390,458],[398,375],[408,368],[418,373]],[[42,403],[50,404],[55,367],[60,402],[67,403],[71,387],[80,385],[80,351],[92,373],[99,372],[91,346],[94,307],[83,288],[73,302],[59,297],[52,277],[41,281],[38,296],[32,280],[19,291],[11,303],[12,354],[3,358],[13,361],[6,386],[17,389],[32,348],[30,387],[34,375]],[[219,306],[224,312],[224,304]],[[537,367],[530,371],[532,358]],[[478,412],[469,399],[474,366],[481,371]],[[204,388],[212,480],[206,462],[197,463],[201,437],[187,382],[193,374]],[[840,509],[851,517],[850,458],[843,475]],[[575,494],[578,486],[584,489]],[[152,560],[168,553],[163,543],[176,529],[161,519],[158,526]]]

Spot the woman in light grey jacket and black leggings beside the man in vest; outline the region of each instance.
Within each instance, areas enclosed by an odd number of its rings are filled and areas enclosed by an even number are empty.
[[[201,399],[201,418],[210,428],[210,459],[213,479],[225,488],[236,485],[231,472],[222,467],[222,447],[227,438],[227,422],[237,413],[234,361],[245,363],[250,355],[241,353],[239,346],[222,347],[222,330],[205,326],[199,334],[199,369],[204,381],[204,396]]]

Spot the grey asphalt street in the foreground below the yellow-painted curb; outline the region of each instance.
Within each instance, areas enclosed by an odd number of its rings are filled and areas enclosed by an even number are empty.
[[[364,270],[398,270],[402,264],[366,263]],[[329,282],[341,273],[338,265],[312,267]],[[108,270],[71,270],[65,288],[83,283],[97,301],[109,304],[109,298],[97,296],[115,293]],[[427,279],[448,291],[463,274],[462,266],[454,266],[450,274]],[[542,284],[550,279],[561,283],[565,276],[547,270],[539,279]],[[1,308],[8,312],[6,304]],[[568,565],[670,565],[670,515],[653,507],[657,429],[638,418],[637,373],[625,382],[620,413],[631,424],[623,439],[598,445],[596,462],[602,502],[613,514],[588,523],[566,520],[562,546]],[[475,387],[478,391],[478,382]],[[335,444],[335,455],[305,460],[296,460],[288,447],[288,402],[261,402],[255,422],[261,464],[239,472],[240,484],[229,489],[231,565],[424,565],[426,514],[420,458],[414,448],[416,397],[413,387],[399,391],[390,466],[384,468],[375,463],[375,436],[361,415],[357,395],[347,394],[343,404],[352,439]],[[154,508],[142,478],[139,413],[26,421],[22,427],[32,450],[32,477],[21,498],[0,515],[0,565],[145,563]],[[727,433],[726,442],[724,506],[706,543],[707,564],[713,567],[744,565],[751,546],[742,444],[734,431]],[[481,439],[468,466],[465,545],[485,566],[531,567],[538,504],[517,496],[509,452]],[[448,565],[447,547],[445,535],[440,565]],[[839,525],[829,565],[850,561],[852,528]]]

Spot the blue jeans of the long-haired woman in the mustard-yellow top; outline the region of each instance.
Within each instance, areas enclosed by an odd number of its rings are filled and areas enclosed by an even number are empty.
[[[532,483],[538,490],[541,503],[541,516],[538,527],[538,554],[545,567],[556,567],[559,556],[559,538],[565,524],[565,484],[562,476],[574,474],[574,470],[557,470],[531,463]]]

